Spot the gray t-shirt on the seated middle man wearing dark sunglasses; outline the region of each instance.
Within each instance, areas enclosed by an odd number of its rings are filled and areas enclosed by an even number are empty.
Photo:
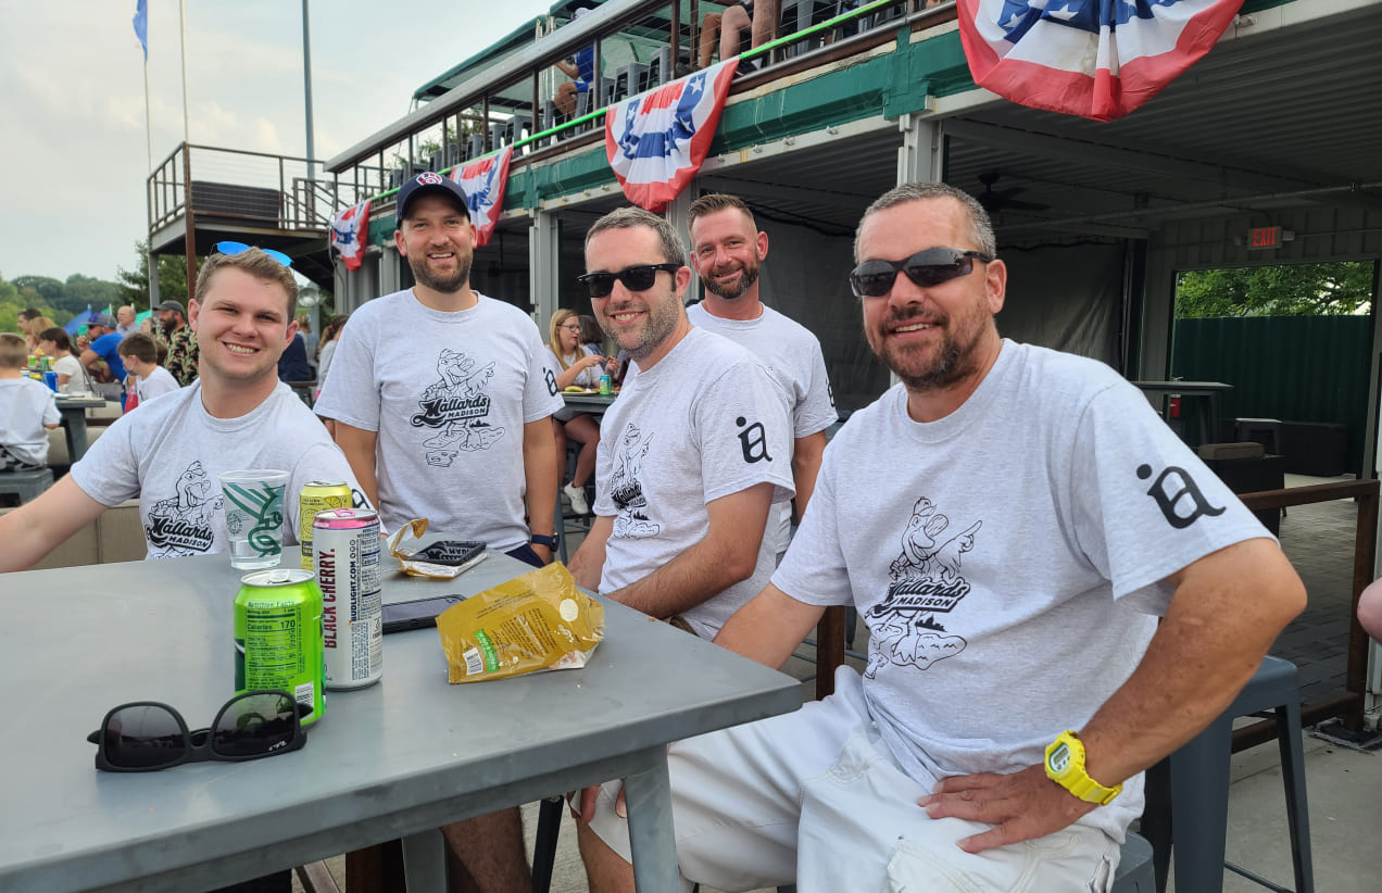
[[[792,440],[784,395],[744,348],[702,329],[623,386],[600,424],[598,516],[614,516],[600,592],[637,582],[705,539],[708,502],[774,484],[792,498]],[[770,516],[771,517],[771,516]],[[681,617],[712,637],[759,594],[777,563],[759,547],[753,576]]]

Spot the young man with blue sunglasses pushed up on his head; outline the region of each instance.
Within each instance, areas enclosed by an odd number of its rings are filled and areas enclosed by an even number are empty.
[[[278,380],[278,358],[297,330],[297,283],[287,256],[220,243],[189,301],[200,376],[189,387],[122,416],[39,499],[0,517],[0,571],[30,567],[108,507],[140,499],[149,558],[225,552],[218,474],[283,469],[289,542],[297,492],[312,480],[347,481],[346,456],[322,423]]]

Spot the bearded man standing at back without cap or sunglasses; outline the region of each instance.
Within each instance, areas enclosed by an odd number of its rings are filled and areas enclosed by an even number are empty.
[[[768,252],[768,234],[734,195],[710,194],[691,202],[691,264],[701,275],[705,300],[687,307],[691,325],[723,335],[757,357],[792,405],[792,480],[797,517],[806,513],[815,473],[825,452],[825,429],[839,413],[831,397],[821,341],[810,329],[764,307],[759,274]],[[792,528],[792,505],[781,505],[768,534],[781,556]]]

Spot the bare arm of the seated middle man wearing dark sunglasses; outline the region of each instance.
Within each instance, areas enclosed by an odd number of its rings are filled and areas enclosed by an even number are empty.
[[[705,538],[652,574],[607,593],[615,601],[668,618],[709,601],[753,575],[773,503],[773,484],[755,484],[705,506]]]

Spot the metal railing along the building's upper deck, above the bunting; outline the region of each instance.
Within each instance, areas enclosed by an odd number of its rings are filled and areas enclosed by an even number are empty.
[[[509,145],[513,164],[522,166],[594,142],[609,105],[697,65],[701,6],[699,0],[607,3],[355,144],[326,167],[361,198],[384,199],[415,173],[446,173]],[[896,43],[902,29],[922,30],[954,18],[952,1],[927,8],[926,0],[784,0],[781,36],[741,54],[761,68],[738,77],[731,93]],[[587,47],[600,76],[580,94],[576,111],[561,115],[549,98],[556,93],[554,66]]]

